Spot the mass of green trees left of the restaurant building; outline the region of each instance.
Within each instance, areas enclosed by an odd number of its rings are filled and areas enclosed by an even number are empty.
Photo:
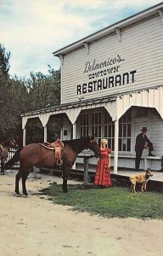
[[[0,143],[8,137],[21,136],[21,113],[59,105],[60,101],[60,70],[48,66],[48,75],[31,73],[30,79],[19,79],[9,76],[9,59],[10,52],[0,44]],[[33,134],[36,137],[37,132],[39,140],[42,124],[35,122],[29,122],[30,129],[38,127]]]

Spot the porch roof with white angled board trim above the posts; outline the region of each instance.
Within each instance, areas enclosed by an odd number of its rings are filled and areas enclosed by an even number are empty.
[[[71,102],[50,108],[37,109],[21,115],[22,129],[25,128],[27,119],[39,118],[45,127],[51,115],[64,113],[70,119],[71,124],[76,123],[76,119],[82,110],[92,108],[105,108],[113,121],[120,119],[128,108],[132,106],[155,108],[163,119],[163,85],[155,85],[150,88],[142,88],[142,90],[129,90],[123,94],[112,96],[97,97],[90,100],[79,102]]]

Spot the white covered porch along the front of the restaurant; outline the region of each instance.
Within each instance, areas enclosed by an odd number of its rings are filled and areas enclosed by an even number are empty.
[[[145,155],[145,152],[142,157],[142,169],[154,168],[158,170],[160,168],[160,159],[162,156],[162,144],[163,144],[163,108],[161,107],[161,102],[163,101],[163,86],[155,86],[146,90],[130,90],[124,94],[116,94],[114,96],[104,96],[100,98],[95,98],[91,100],[82,100],[78,102],[62,104],[56,107],[39,109],[30,113],[22,114],[22,129],[23,129],[23,145],[26,143],[26,124],[28,119],[40,119],[43,127],[43,141],[46,142],[48,138],[48,120],[51,116],[57,121],[62,121],[60,138],[62,140],[66,139],[76,139],[77,137],[83,136],[81,134],[81,114],[90,113],[91,111],[100,110],[107,112],[110,115],[111,122],[113,123],[112,128],[114,129],[114,140],[113,140],[113,149],[111,154],[112,163],[114,166],[114,173],[118,171],[118,167],[122,166],[124,168],[134,168],[134,140],[136,132],[139,131],[141,126],[149,126],[150,137],[155,139],[155,157],[148,157]],[[132,109],[132,122],[131,122],[131,135],[130,143],[132,145],[129,150],[124,151],[124,148],[127,149],[126,140],[120,138],[121,134],[121,117],[124,116],[127,111]],[[139,114],[142,112],[142,109],[145,109],[147,113],[150,113],[150,116],[143,116]],[[136,114],[137,113],[137,114]],[[103,120],[103,119],[102,119]],[[104,125],[102,121],[101,126]],[[94,125],[95,126],[95,125]],[[86,135],[91,135],[91,130],[89,125],[87,125]],[[124,125],[125,127],[125,125]],[[102,127],[103,128],[103,127]],[[83,130],[84,131],[84,130]],[[99,130],[97,131],[99,132]],[[104,136],[104,131],[101,131],[101,134],[96,134],[95,137],[100,139]],[[101,137],[100,137],[101,136]],[[120,148],[120,139],[121,139],[121,151]],[[82,164],[82,159],[76,159],[76,165],[74,169],[78,168]],[[97,160],[94,158],[91,159],[91,165],[95,166]],[[93,167],[94,168],[94,167]]]

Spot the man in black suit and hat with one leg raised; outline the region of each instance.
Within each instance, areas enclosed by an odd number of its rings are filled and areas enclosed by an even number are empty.
[[[149,141],[149,138],[147,137],[147,127],[143,127],[141,133],[138,134],[136,137],[136,143],[135,143],[135,151],[136,151],[136,159],[135,159],[135,169],[138,170],[140,166],[140,160],[143,154],[144,148],[149,148],[149,156],[155,156],[151,152],[154,150],[153,143]]]

